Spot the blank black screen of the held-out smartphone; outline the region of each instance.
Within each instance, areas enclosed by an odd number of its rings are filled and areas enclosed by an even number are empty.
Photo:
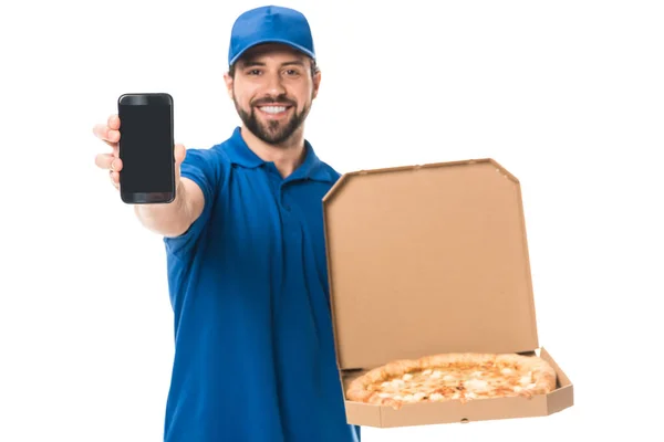
[[[123,192],[173,191],[170,106],[121,105],[120,118]]]

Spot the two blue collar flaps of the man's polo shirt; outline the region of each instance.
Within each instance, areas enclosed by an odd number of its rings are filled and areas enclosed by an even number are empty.
[[[324,164],[319,159],[313,147],[308,140],[304,140],[305,157],[304,162],[298,167],[288,180],[311,179],[317,181],[334,182],[335,178]],[[242,138],[241,128],[238,126],[232,131],[230,143],[226,149],[230,161],[245,168],[257,168],[268,164],[261,159],[247,146]]]

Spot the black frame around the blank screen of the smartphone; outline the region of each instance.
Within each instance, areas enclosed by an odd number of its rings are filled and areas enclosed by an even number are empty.
[[[166,192],[125,192],[123,190],[122,170],[120,171],[120,197],[127,204],[169,203],[175,200],[175,139],[173,124],[173,97],[166,93],[131,93],[117,98],[117,115],[120,117],[118,156],[123,159],[122,113],[121,106],[149,106],[152,104],[168,105],[170,109],[170,190]]]

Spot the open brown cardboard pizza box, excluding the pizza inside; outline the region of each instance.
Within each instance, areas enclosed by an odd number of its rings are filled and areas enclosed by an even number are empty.
[[[538,341],[519,180],[494,159],[360,170],[323,198],[335,351],[349,383],[395,359],[538,355],[558,385],[533,398],[408,403],[345,400],[347,422],[391,428],[543,417],[573,386]]]

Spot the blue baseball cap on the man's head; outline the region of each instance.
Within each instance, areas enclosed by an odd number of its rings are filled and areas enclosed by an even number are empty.
[[[294,9],[268,6],[238,17],[230,33],[228,65],[232,65],[245,51],[261,43],[288,44],[315,59],[309,22]]]

